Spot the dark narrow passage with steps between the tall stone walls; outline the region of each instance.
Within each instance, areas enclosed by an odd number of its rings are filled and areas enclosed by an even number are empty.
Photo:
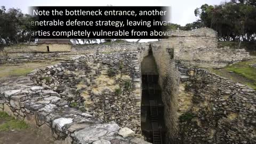
[[[141,62],[142,102],[141,129],[148,142],[162,144],[165,137],[164,105],[161,88],[158,85],[158,73],[151,52]]]

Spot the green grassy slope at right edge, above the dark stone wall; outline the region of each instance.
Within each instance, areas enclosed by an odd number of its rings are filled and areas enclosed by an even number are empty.
[[[256,68],[249,66],[252,63],[256,63],[256,59],[238,62],[219,70],[210,69],[210,71],[256,89]]]

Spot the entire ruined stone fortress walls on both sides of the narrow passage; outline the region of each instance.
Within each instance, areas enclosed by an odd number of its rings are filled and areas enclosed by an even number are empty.
[[[161,42],[78,45],[68,53],[15,58],[9,54],[1,63],[71,59],[1,83],[0,106],[15,117],[47,125],[58,140],[147,143],[139,139],[140,62],[150,50],[162,89],[166,143],[256,143],[255,90],[203,69],[251,57],[244,50],[218,49],[215,31],[207,28],[173,31]],[[119,130],[116,123],[127,128]]]

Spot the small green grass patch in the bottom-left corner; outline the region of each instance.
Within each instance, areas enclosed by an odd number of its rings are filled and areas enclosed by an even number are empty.
[[[24,121],[15,119],[3,111],[0,111],[0,119],[5,121],[4,123],[0,124],[0,132],[10,130],[25,130],[29,128],[29,125]]]

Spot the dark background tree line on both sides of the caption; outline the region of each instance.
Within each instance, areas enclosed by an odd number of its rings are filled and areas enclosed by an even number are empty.
[[[169,29],[191,30],[209,27],[218,32],[219,41],[255,42],[256,40],[256,1],[231,0],[219,5],[204,4],[195,9],[198,20],[180,26],[170,23]],[[0,7],[0,46],[17,43],[30,43],[31,30],[29,25],[34,18],[23,14],[20,9]],[[102,41],[108,42],[107,39]],[[79,43],[79,41],[77,40]],[[82,39],[83,43],[93,43],[95,39]]]

